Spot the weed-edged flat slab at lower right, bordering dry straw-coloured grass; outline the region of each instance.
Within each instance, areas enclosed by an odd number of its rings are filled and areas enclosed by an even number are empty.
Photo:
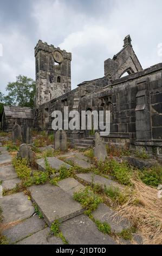
[[[107,222],[111,226],[111,230],[116,233],[131,228],[131,223],[127,218],[117,215],[117,212],[109,208],[106,204],[100,204],[98,209],[92,212],[92,215],[96,220]]]

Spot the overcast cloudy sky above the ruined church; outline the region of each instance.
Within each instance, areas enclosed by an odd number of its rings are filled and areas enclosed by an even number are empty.
[[[121,50],[127,34],[143,68],[162,62],[161,0],[0,0],[0,4],[3,93],[19,74],[35,79],[34,47],[39,39],[72,52],[72,88],[102,77],[104,60]]]

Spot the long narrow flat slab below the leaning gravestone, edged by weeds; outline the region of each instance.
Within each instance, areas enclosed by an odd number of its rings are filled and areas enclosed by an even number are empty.
[[[118,182],[111,179],[104,178],[94,173],[80,173],[80,174],[76,174],[76,176],[81,180],[86,181],[88,184],[92,183],[93,181],[94,184],[99,184],[103,188],[104,186],[106,186],[107,188],[118,187],[120,190],[124,189],[124,186],[120,185]]]

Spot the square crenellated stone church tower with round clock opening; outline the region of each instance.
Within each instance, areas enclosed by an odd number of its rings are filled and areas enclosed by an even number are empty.
[[[36,107],[71,90],[72,53],[38,41],[35,47]]]

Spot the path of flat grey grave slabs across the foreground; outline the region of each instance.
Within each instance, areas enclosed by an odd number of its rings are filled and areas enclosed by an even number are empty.
[[[69,159],[81,166],[89,167],[90,163],[81,153],[70,154]],[[7,148],[0,148],[0,180],[3,190],[11,190],[20,183],[14,167],[11,164],[11,156]],[[56,157],[48,157],[53,168],[58,169],[62,164],[70,167]],[[83,161],[83,162],[82,162]],[[40,169],[45,169],[42,160],[37,161]],[[78,164],[78,165],[79,165]],[[77,177],[90,183],[92,173],[77,174]],[[94,182],[102,186],[119,186],[115,181],[103,178],[99,175],[93,177]],[[62,240],[51,234],[50,225],[55,220],[61,220],[60,229],[69,244],[93,244],[112,245],[117,242],[109,235],[101,233],[95,223],[86,216],[85,209],[73,199],[73,193],[84,186],[74,178],[67,178],[58,182],[58,185],[51,185],[48,182],[44,185],[34,185],[27,190],[27,193],[18,192],[0,198],[0,206],[3,214],[1,223],[1,234],[6,236],[9,243],[18,245],[46,244],[62,245]],[[33,203],[42,212],[44,218],[38,218]],[[100,204],[92,214],[95,219],[107,222],[115,232],[130,228],[131,224],[120,216],[113,217],[116,212],[105,204]],[[126,243],[126,241],[124,241]]]

